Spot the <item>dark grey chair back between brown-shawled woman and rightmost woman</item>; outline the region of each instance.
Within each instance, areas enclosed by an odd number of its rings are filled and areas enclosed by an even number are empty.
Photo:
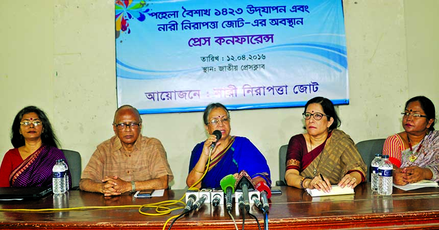
[[[368,169],[368,182],[371,181],[372,160],[375,158],[375,154],[382,154],[384,141],[385,139],[365,140],[360,141],[355,145]]]

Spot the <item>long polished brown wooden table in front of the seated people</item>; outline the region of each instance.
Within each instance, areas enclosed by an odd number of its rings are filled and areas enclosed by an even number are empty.
[[[282,195],[270,201],[269,229],[439,229],[439,188],[402,191],[394,188],[392,196],[373,194],[370,183],[355,188],[355,195],[311,197],[292,187],[279,187]],[[70,191],[67,206],[144,205],[168,199],[180,199],[183,190],[165,191],[163,197],[135,198],[132,194],[104,197],[99,193]],[[54,208],[54,196],[38,200],[0,201],[0,209]],[[154,210],[142,210],[155,213]],[[161,229],[164,222],[182,210],[164,216],[145,216],[137,208],[91,209],[65,212],[0,212],[0,228],[23,229]],[[263,214],[252,206],[263,229]],[[242,216],[233,207],[238,228]],[[249,215],[245,229],[257,229]],[[168,225],[166,226],[166,229]],[[234,229],[223,206],[202,206],[175,222],[172,229]]]

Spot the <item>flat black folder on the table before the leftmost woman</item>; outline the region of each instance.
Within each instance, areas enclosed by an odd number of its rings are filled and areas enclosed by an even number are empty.
[[[36,199],[51,192],[52,187],[6,187],[0,188],[0,199]]]

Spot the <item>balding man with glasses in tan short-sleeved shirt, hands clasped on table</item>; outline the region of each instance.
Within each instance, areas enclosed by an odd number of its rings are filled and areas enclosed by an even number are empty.
[[[105,196],[143,189],[166,189],[174,175],[161,142],[140,134],[142,119],[125,105],[114,114],[115,136],[97,146],[81,175],[79,187]]]

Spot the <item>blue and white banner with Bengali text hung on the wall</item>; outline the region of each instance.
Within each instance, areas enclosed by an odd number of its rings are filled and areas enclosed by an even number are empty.
[[[349,104],[341,0],[115,1],[118,106]]]

